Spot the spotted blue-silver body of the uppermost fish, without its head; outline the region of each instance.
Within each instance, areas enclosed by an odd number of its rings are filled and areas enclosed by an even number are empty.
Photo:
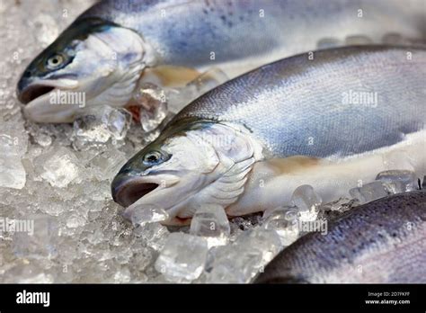
[[[164,64],[206,68],[211,63],[226,63],[223,69],[232,77],[237,72],[227,67],[230,63],[238,67],[234,62],[244,57],[252,59],[248,62],[252,66],[245,66],[253,69],[278,56],[315,49],[319,40],[327,37],[344,40],[350,35],[365,35],[380,43],[386,33],[396,32],[422,38],[420,17],[410,13],[421,5],[393,0],[332,0],[321,6],[315,0],[107,0],[80,19],[100,17],[137,30],[159,52]],[[362,18],[359,9],[365,12]],[[382,28],[388,16],[394,21]],[[370,27],[371,22],[376,27]],[[313,24],[315,30],[307,31]],[[300,38],[293,35],[298,32],[303,33]],[[214,60],[211,52],[215,52]],[[258,59],[261,56],[262,60]]]

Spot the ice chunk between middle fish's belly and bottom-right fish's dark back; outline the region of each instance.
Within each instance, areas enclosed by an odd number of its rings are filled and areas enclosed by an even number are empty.
[[[280,207],[265,211],[263,228],[275,230],[280,236],[282,246],[289,246],[299,236],[297,207]]]

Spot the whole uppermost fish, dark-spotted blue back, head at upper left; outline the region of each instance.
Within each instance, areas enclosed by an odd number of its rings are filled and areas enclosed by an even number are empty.
[[[142,83],[185,94],[201,76],[202,94],[318,45],[424,41],[424,12],[422,0],[105,0],[31,61],[17,96],[31,121],[72,122],[96,105],[134,105]]]

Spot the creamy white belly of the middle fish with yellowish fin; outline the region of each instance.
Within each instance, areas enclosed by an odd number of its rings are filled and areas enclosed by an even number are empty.
[[[423,177],[426,175],[426,130],[407,135],[393,146],[356,156],[313,159],[300,165],[286,159],[280,162],[280,166],[268,160],[253,166],[243,195],[226,208],[229,216],[288,205],[292,193],[301,184],[312,185],[327,202],[349,197],[351,188],[374,181],[382,171],[414,170],[418,177]]]

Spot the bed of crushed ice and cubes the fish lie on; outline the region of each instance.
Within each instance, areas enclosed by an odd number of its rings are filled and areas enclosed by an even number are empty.
[[[134,210],[132,221],[123,219],[123,209],[111,200],[111,179],[155,139],[164,112],[142,115],[145,131],[128,112],[108,107],[74,124],[40,125],[22,119],[14,94],[23,68],[90,3],[0,2],[0,37],[7,43],[0,58],[0,226],[5,229],[0,282],[250,282],[304,234],[300,223],[333,219],[359,203],[417,187],[404,166],[354,189],[357,199],[322,203],[303,185],[292,203],[230,222],[222,208],[207,206],[185,228],[159,224],[166,214],[158,208]],[[199,90],[198,83],[190,87]],[[147,94],[147,89],[138,101],[162,101],[161,91]],[[182,94],[174,96],[174,102],[182,100]],[[153,117],[158,121],[149,120]],[[401,158],[386,162],[392,168]]]

